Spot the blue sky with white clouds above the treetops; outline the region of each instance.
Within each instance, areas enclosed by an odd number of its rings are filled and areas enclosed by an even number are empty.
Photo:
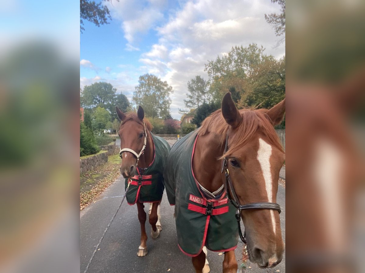
[[[108,7],[110,24],[84,22],[80,87],[109,82],[131,100],[139,76],[151,73],[173,87],[174,118],[184,108],[188,81],[196,75],[208,79],[208,60],[250,43],[276,58],[285,54],[285,45],[274,48],[279,38],[264,18],[280,12],[269,0],[113,0]]]

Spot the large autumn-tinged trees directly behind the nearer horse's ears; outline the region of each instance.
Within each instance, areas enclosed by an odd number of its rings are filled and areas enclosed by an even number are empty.
[[[238,107],[270,108],[284,99],[285,57],[277,60],[264,51],[257,44],[233,47],[227,55],[205,64],[213,102],[219,103],[228,91]]]

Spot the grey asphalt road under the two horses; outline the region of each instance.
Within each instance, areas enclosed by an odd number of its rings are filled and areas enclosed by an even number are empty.
[[[170,143],[171,144],[171,143]],[[285,172],[284,172],[285,175]],[[124,194],[124,179],[119,177],[103,194],[80,213],[80,272],[84,272],[92,253],[99,242],[110,219],[118,209]],[[277,203],[280,204],[281,231],[285,242],[285,188],[279,186]],[[148,213],[148,204],[145,211]],[[170,206],[166,193],[161,202],[162,231],[157,240],[150,237],[151,226],[146,221],[148,254],[137,257],[140,243],[140,225],[137,217],[137,206],[129,206],[126,201],[101,242],[99,249],[88,269],[88,273],[124,273],[124,272],[195,272],[191,258],[185,256],[177,246],[176,227],[173,217],[174,207]],[[243,224],[242,224],[243,226]],[[241,264],[243,243],[238,242],[235,250],[238,265]],[[208,250],[208,261],[212,273],[222,272],[223,255]],[[246,272],[285,272],[283,261],[272,269],[260,269],[255,264]]]

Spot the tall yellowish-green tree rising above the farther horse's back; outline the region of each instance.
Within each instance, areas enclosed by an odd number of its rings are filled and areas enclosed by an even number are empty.
[[[172,87],[152,74],[139,77],[138,86],[133,92],[134,104],[141,105],[145,115],[151,118],[164,118],[170,113],[170,94]]]

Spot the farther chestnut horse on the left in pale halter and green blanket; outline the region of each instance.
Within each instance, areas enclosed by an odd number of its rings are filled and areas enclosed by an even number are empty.
[[[144,119],[141,106],[136,114],[124,114],[116,107],[122,123],[120,137],[120,173],[126,179],[126,198],[129,205],[137,203],[138,219],[141,224],[141,244],[137,255],[147,255],[147,234],[145,229],[146,212],[143,203],[152,203],[149,222],[151,237],[160,236],[160,203],[164,192],[163,168],[170,151],[170,145],[162,138],[154,136],[148,120]]]

